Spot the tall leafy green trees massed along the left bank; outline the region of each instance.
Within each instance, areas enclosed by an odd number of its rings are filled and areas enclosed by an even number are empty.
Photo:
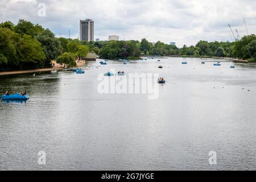
[[[39,24],[20,19],[0,23],[0,71],[48,68],[52,60],[75,66],[89,52],[79,40],[56,38]]]

